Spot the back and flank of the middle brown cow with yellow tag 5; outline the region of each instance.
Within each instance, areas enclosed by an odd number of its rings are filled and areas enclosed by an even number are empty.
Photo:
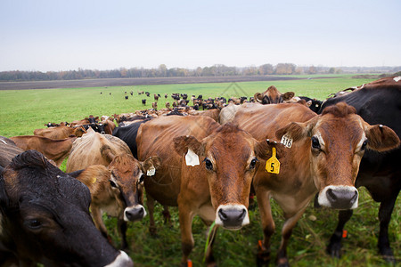
[[[176,206],[181,176],[181,157],[174,150],[173,139],[192,135],[198,140],[211,134],[219,124],[210,117],[168,116],[152,119],[139,127],[136,137],[138,159],[159,156],[160,169],[144,180],[145,190],[163,205]]]

